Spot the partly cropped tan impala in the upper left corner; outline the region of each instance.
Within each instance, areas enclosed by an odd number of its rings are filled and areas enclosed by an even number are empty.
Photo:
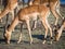
[[[8,4],[4,10],[0,13],[0,20],[4,17],[9,12],[12,13],[12,19],[14,19],[14,9],[17,7],[17,0],[8,0]]]

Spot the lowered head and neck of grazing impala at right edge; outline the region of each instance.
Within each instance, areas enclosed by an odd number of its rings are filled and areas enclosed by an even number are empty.
[[[64,28],[65,28],[65,19],[63,20],[62,25],[60,27],[57,27],[57,25],[54,27],[56,41],[58,41],[58,39],[61,38],[61,35],[62,35]]]

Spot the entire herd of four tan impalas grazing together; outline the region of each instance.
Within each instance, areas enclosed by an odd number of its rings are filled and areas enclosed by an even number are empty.
[[[31,28],[30,28],[29,21],[31,19],[32,21],[35,21],[35,26],[32,27],[32,29],[35,29],[37,25],[37,17],[39,17],[39,20],[42,22],[42,25],[44,26],[44,30],[46,30],[46,35],[42,44],[44,44],[47,40],[48,30],[50,30],[51,40],[53,39],[52,33],[55,33],[55,36],[54,36],[55,40],[60,39],[62,32],[65,27],[65,19],[60,14],[60,0],[29,0],[29,5],[21,9],[17,12],[16,16],[14,17],[14,9],[18,8],[17,1],[18,0],[8,0],[6,7],[0,13],[0,20],[4,17],[8,13],[10,12],[12,13],[13,21],[11,25],[5,29],[5,33],[3,35],[6,44],[10,44],[11,34],[12,34],[12,30],[15,28],[15,26],[18,23],[23,24],[24,22],[27,24],[29,39],[31,44],[32,37],[31,37]],[[52,13],[53,16],[55,17],[55,24],[54,24],[55,27],[53,28],[48,22],[48,16],[50,15],[50,13]],[[58,17],[63,20],[62,26],[60,28],[56,27]],[[56,30],[56,32],[53,32],[53,30]],[[21,40],[22,40],[22,34],[17,42],[21,42]]]

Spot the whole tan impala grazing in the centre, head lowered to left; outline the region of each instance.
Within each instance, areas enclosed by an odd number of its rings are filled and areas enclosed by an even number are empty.
[[[37,15],[39,15],[39,19],[41,20],[41,22],[42,22],[42,24],[46,28],[46,35],[44,35],[43,44],[46,42],[46,39],[47,39],[48,28],[50,29],[51,39],[52,39],[52,28],[50,27],[50,25],[48,23],[49,14],[50,14],[49,8],[47,8],[46,5],[42,5],[42,4],[30,5],[30,7],[26,7],[24,9],[21,9],[20,12],[17,13],[17,15],[14,17],[11,25],[8,27],[8,29],[4,33],[4,38],[6,39],[6,42],[10,44],[11,34],[12,34],[12,30],[14,29],[14,27],[20,22],[21,23],[26,22],[27,28],[28,28],[28,32],[29,32],[29,36],[30,36],[30,44],[31,44],[32,38],[31,38],[31,30],[30,30],[29,21],[30,21],[30,19],[37,20]],[[18,40],[18,42],[20,41],[21,41],[21,39]]]

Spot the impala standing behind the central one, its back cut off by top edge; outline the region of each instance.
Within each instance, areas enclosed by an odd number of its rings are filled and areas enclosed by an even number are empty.
[[[60,14],[60,0],[31,0],[29,2],[29,5],[32,4],[47,5],[56,19],[54,25],[57,25],[58,17],[62,17],[62,15]],[[34,28],[36,28],[36,23],[37,21],[35,22]]]

